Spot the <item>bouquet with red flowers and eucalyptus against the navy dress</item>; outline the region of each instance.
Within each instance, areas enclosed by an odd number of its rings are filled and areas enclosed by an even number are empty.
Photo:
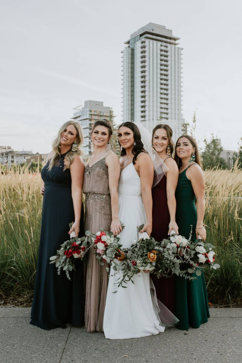
[[[71,228],[73,223],[70,223]],[[66,277],[71,280],[69,271],[75,270],[75,263],[78,259],[83,259],[87,244],[85,238],[75,237],[75,232],[70,234],[70,240],[62,243],[61,248],[57,250],[56,255],[50,257],[50,264],[56,264],[57,274],[60,275],[61,269],[66,272]],[[82,244],[81,242],[84,241]]]

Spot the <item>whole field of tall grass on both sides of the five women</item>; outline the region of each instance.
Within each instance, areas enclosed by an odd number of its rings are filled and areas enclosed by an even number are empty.
[[[1,171],[1,170],[0,170]],[[242,306],[242,171],[205,171],[207,240],[219,270],[206,270],[209,301]],[[29,303],[41,228],[40,174],[0,173],[0,301]]]

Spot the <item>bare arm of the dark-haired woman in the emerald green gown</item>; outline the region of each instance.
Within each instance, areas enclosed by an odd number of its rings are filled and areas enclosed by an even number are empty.
[[[203,227],[205,213],[205,178],[199,165],[194,164],[186,171],[186,176],[192,183],[192,187],[197,199],[197,225],[196,237],[198,234],[206,240],[206,229]]]

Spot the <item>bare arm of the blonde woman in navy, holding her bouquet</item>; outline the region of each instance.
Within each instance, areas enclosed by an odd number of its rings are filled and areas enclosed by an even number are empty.
[[[73,200],[73,207],[75,213],[75,221],[68,232],[69,234],[75,231],[75,235],[78,236],[81,219],[81,208],[82,208],[82,188],[84,180],[85,166],[82,158],[76,156],[70,165],[71,172],[71,196]],[[71,221],[68,221],[68,223]]]

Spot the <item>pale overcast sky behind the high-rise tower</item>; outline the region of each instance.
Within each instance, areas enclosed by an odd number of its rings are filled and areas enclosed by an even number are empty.
[[[183,115],[196,139],[226,149],[242,136],[242,3],[225,0],[1,0],[0,145],[49,152],[73,107],[121,110],[121,51],[152,22],[183,50]],[[201,141],[200,141],[201,143]]]

